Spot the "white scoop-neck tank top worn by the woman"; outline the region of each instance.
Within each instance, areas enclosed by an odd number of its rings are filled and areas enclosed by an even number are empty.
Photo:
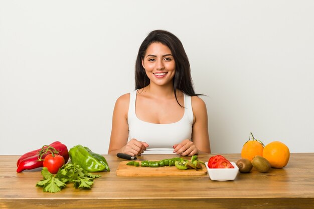
[[[173,145],[192,137],[193,110],[191,96],[184,94],[184,115],[178,122],[156,124],[142,121],[135,113],[137,90],[130,93],[128,109],[129,140],[146,142],[149,147],[144,154],[173,154]]]

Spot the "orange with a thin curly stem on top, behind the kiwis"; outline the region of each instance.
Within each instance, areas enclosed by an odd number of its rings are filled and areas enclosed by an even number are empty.
[[[241,150],[241,157],[249,159],[250,161],[255,157],[256,155],[263,156],[263,149],[264,145],[260,140],[256,140],[252,133],[250,133],[250,136],[252,135],[253,140],[250,139],[243,145]]]

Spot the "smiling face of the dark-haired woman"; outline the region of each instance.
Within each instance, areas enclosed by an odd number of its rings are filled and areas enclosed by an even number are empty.
[[[162,43],[151,43],[142,59],[142,66],[150,84],[172,85],[176,72],[176,62],[171,50]]]

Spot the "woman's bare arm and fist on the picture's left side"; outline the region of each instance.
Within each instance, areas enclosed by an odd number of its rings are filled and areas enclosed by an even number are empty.
[[[128,140],[127,113],[130,101],[130,94],[120,96],[114,106],[112,116],[112,128],[108,154],[118,152],[129,155],[140,155],[148,147],[145,142],[136,139]]]

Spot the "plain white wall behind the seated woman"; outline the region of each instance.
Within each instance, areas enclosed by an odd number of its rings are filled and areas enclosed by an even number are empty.
[[[106,154],[115,100],[155,29],[177,35],[213,153],[314,152],[313,1],[0,0],[0,154],[59,140]]]

